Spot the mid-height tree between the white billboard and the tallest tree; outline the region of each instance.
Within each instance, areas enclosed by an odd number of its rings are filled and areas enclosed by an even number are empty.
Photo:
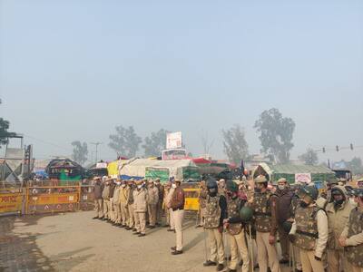
[[[231,162],[236,164],[249,156],[249,145],[245,139],[245,132],[239,124],[231,129],[221,131],[223,134],[223,151]]]

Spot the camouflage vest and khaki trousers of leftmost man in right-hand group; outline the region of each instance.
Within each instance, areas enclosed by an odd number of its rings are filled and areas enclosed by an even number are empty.
[[[208,240],[211,248],[210,260],[212,262],[224,263],[224,247],[221,231],[218,229],[221,225],[221,196],[207,196],[205,201],[205,220],[204,228],[208,233]]]

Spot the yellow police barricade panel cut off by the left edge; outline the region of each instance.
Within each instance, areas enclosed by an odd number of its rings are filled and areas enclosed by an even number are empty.
[[[23,207],[22,189],[0,189],[0,214],[21,213]]]

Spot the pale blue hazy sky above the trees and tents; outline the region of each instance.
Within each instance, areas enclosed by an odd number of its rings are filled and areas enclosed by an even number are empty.
[[[194,155],[208,132],[224,158],[221,129],[240,123],[258,153],[271,107],[296,122],[292,158],[363,146],[363,1],[0,0],[0,98],[36,158],[80,140],[113,159],[118,124],[182,131]]]

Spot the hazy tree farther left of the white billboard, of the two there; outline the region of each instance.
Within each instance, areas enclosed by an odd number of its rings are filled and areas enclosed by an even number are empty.
[[[142,138],[136,134],[132,126],[128,128],[122,125],[116,126],[116,133],[109,136],[108,146],[117,153],[118,156],[132,158],[136,156]]]

